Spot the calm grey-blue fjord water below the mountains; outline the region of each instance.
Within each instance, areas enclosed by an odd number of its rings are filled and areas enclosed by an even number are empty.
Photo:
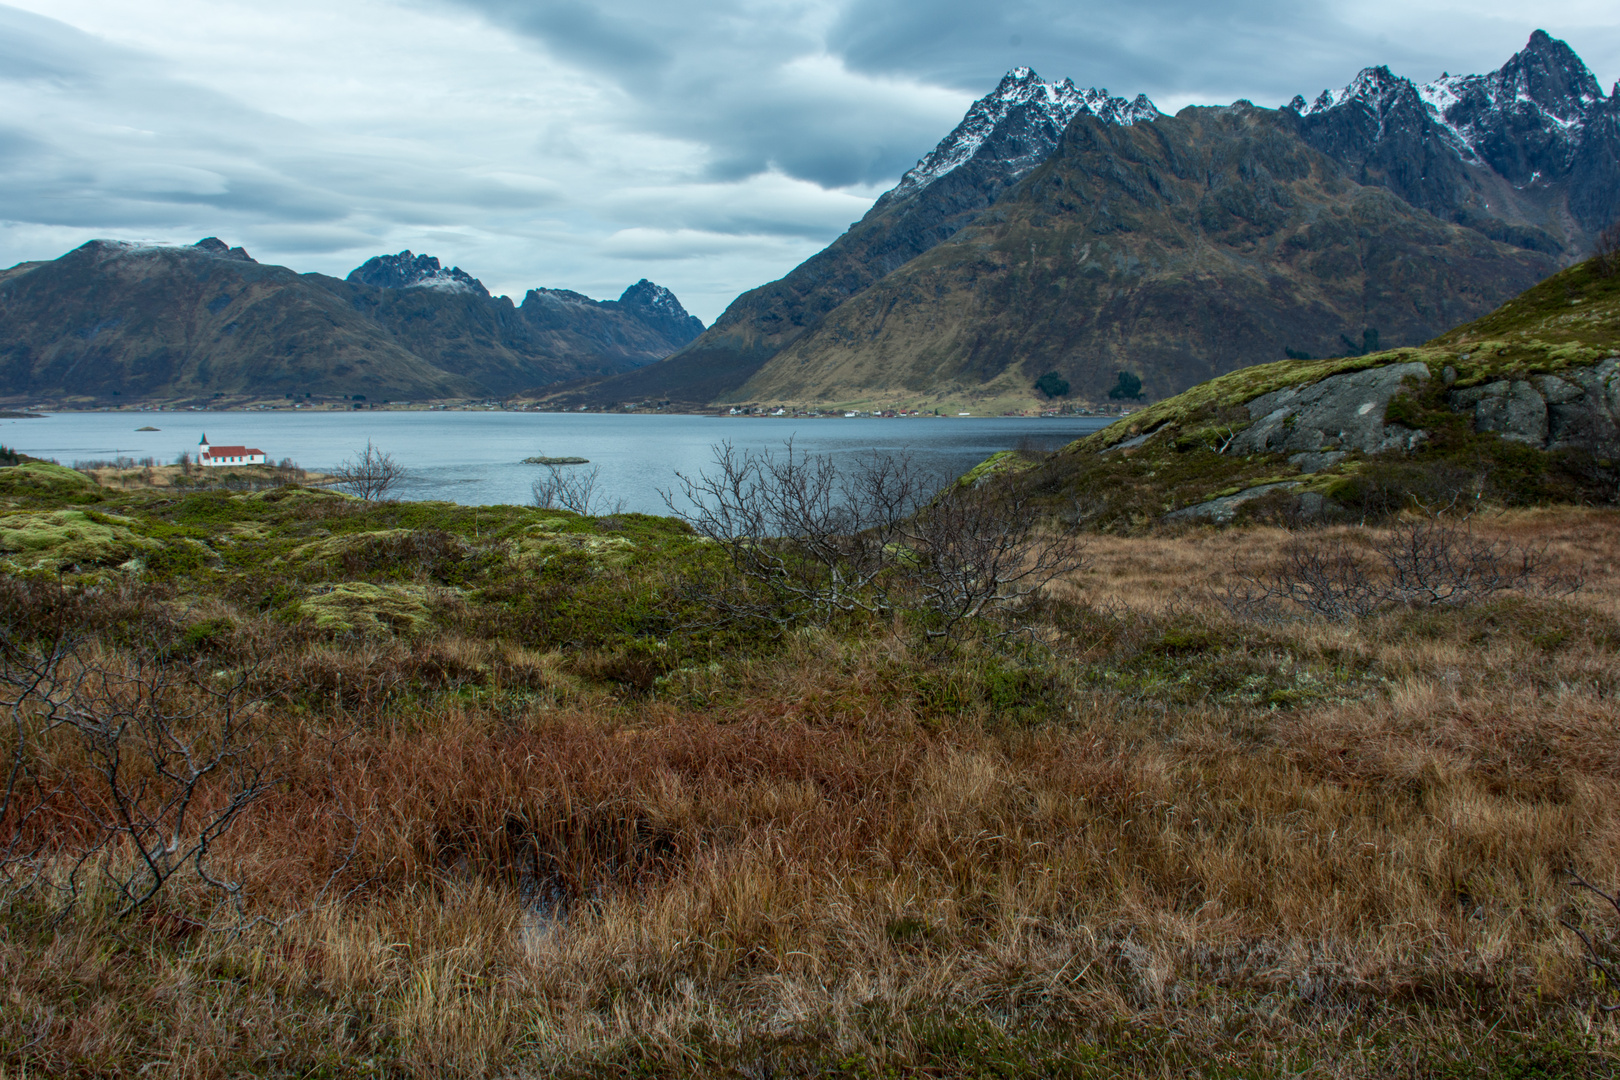
[[[151,424],[160,431],[136,431]],[[998,450],[1055,450],[1108,424],[1102,416],[1064,418],[744,418],[624,416],[611,413],[55,413],[0,421],[0,444],[63,465],[120,455],[173,461],[196,452],[206,432],[222,445],[264,450],[327,470],[369,439],[410,470],[400,499],[444,499],[463,505],[526,504],[539,466],[526,457],[582,457],[601,466],[598,487],[609,502],[666,513],[661,491],[711,468],[714,445],[781,452],[787,439],[810,453],[849,458],[873,450],[907,452],[941,479],[959,476]]]

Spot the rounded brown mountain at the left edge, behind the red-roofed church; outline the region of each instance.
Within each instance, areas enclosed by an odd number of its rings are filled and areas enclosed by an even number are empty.
[[[104,240],[0,277],[0,385],[8,395],[126,398],[473,392],[394,342],[342,290],[214,246]]]

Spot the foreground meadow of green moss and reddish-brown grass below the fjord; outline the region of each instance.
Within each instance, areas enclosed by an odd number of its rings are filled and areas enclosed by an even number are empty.
[[[1398,523],[1094,536],[930,638],[672,520],[8,483],[6,1075],[1620,1070],[1614,510],[1343,619],[1233,586]]]

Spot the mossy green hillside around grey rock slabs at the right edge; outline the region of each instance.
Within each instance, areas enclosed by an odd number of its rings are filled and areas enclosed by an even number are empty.
[[[1615,356],[1620,356],[1620,275],[1604,277],[1592,262],[1584,262],[1416,348],[1278,361],[1210,379],[1071,444],[1022,476],[1042,487],[1053,507],[1116,529],[1147,528],[1181,507],[1268,483],[1298,487],[1257,500],[1244,515],[1275,515],[1306,492],[1343,505],[1364,505],[1367,499],[1383,505],[1408,495],[1443,502],[1460,492],[1468,500],[1505,505],[1607,504],[1620,491],[1610,455],[1549,453],[1479,432],[1450,402],[1455,392],[1469,387],[1591,368]],[[1390,403],[1392,423],[1429,434],[1411,453],[1349,453],[1306,474],[1283,453],[1218,452],[1254,423],[1246,403],[1264,393],[1408,363],[1424,364],[1430,376]],[[1139,445],[1113,450],[1129,440]]]

